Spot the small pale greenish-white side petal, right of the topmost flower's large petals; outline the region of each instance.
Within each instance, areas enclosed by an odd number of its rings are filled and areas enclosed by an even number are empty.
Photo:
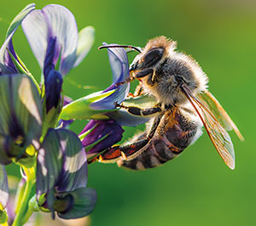
[[[95,39],[95,29],[92,26],[86,26],[79,31],[79,45],[76,53],[74,67],[78,66],[84,57],[89,53]]]

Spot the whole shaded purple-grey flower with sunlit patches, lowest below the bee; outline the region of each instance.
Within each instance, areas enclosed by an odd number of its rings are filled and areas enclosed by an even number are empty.
[[[83,145],[67,129],[49,129],[38,150],[37,199],[41,208],[60,218],[82,218],[96,204],[96,191],[86,188],[87,160]]]

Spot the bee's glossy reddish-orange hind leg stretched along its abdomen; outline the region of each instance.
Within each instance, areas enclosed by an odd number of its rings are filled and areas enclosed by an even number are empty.
[[[160,114],[160,116],[155,117],[150,132],[146,138],[142,138],[141,140],[138,140],[132,144],[113,146],[106,150],[102,155],[97,156],[96,159],[105,163],[115,162],[119,160],[119,157],[123,157],[124,160],[133,159],[135,155],[138,154],[137,152],[143,149],[151,138],[153,138],[162,116],[163,114]]]

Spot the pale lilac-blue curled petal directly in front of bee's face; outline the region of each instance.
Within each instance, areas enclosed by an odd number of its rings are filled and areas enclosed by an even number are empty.
[[[130,83],[125,82],[130,77],[129,62],[124,48],[108,48],[109,62],[113,72],[113,84],[103,92],[116,89],[116,91],[105,99],[90,104],[94,110],[111,110],[115,103],[122,103],[130,90]],[[125,82],[124,84],[118,84]]]

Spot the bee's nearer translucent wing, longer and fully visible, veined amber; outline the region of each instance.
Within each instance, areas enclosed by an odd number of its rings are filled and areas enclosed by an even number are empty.
[[[182,91],[201,118],[201,121],[212,140],[212,144],[216,150],[218,150],[218,154],[222,157],[228,167],[234,169],[235,152],[230,135],[218,122],[216,117],[213,116],[212,111],[208,109],[207,105],[204,105],[200,99],[197,99],[186,85],[182,86]]]

